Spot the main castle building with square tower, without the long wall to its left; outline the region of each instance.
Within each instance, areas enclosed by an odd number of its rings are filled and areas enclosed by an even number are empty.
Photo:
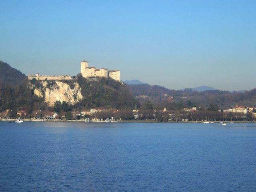
[[[84,78],[105,77],[120,81],[120,70],[107,70],[106,68],[89,67],[88,61],[81,61],[81,74]]]

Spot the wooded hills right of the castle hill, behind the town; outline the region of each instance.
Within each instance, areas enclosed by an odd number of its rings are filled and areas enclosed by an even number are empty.
[[[229,92],[221,90],[193,91],[170,90],[162,86],[151,86],[149,84],[129,85],[134,96],[144,102],[153,100],[154,103],[186,103],[192,102],[195,106],[208,108],[211,103],[217,104],[219,108],[230,108],[236,105],[256,106],[256,89],[245,92]],[[165,104],[166,105],[166,104]]]

